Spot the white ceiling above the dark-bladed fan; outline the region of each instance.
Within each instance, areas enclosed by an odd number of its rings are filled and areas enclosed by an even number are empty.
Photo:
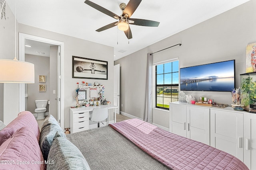
[[[14,13],[15,1],[6,1]],[[133,38],[129,42],[117,27],[95,31],[116,20],[88,6],[84,1],[17,0],[16,19],[18,23],[114,47],[114,60],[117,60],[249,0],[142,0],[132,18],[159,21],[160,24],[158,27],[130,25]],[[129,2],[91,1],[117,15],[121,15],[119,4]],[[120,50],[125,52],[118,52]]]

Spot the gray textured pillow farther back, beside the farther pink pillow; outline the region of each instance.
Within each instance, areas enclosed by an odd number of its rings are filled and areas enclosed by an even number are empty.
[[[48,158],[50,147],[52,146],[52,141],[56,132],[59,132],[60,136],[66,138],[64,130],[61,129],[56,119],[52,115],[48,115],[42,124],[40,135],[40,148],[44,156],[44,160],[47,160]]]

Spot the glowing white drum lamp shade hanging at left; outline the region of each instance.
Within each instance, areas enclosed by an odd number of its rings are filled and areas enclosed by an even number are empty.
[[[0,59],[0,83],[34,83],[34,64]]]

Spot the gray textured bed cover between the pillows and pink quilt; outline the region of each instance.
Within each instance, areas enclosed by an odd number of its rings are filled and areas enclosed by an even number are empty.
[[[67,135],[91,170],[168,170],[110,126]]]

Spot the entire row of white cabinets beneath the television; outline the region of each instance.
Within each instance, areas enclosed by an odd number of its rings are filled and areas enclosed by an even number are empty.
[[[256,113],[173,102],[169,129],[224,150],[256,170]]]

